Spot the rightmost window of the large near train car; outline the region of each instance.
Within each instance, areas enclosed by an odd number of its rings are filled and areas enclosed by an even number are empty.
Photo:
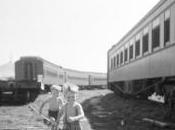
[[[170,10],[165,12],[165,21],[164,21],[164,44],[170,41]]]

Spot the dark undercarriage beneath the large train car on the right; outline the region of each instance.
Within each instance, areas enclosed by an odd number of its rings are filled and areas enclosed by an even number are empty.
[[[161,77],[108,83],[109,89],[120,96],[148,99],[152,94],[162,96],[168,108],[168,116],[175,106],[175,77]]]

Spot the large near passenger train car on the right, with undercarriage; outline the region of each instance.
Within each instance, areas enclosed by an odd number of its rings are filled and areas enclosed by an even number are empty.
[[[107,84],[117,95],[164,103],[175,97],[175,1],[160,0],[107,52]]]

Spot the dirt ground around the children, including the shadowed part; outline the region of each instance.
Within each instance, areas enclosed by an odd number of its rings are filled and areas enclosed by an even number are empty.
[[[39,95],[30,105],[37,109],[48,98]],[[82,90],[78,100],[85,111],[83,130],[170,130],[142,121],[152,118],[163,121],[165,107],[147,100],[123,98],[110,90]],[[28,108],[29,104],[2,103],[0,106],[0,130],[48,130],[41,117]],[[43,113],[47,115],[48,106]]]

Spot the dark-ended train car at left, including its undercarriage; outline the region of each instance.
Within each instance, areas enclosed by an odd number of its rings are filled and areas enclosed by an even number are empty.
[[[16,95],[34,99],[44,84],[46,89],[52,84],[64,82],[62,67],[50,63],[40,57],[21,57],[15,63]],[[25,97],[24,96],[24,97]]]

